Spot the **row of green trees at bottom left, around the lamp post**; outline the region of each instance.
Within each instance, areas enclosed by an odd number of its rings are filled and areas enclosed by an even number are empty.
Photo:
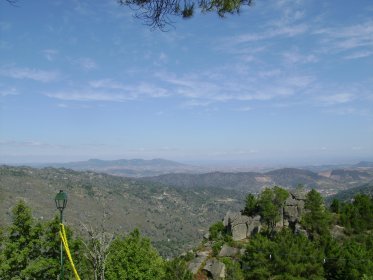
[[[0,279],[56,279],[60,273],[59,229],[58,217],[45,223],[37,222],[29,206],[19,201],[12,210],[12,224],[0,228]],[[117,236],[110,243],[101,268],[91,262],[90,254],[96,252],[93,246],[97,248],[103,244],[87,242],[84,246],[85,242],[74,238],[70,228],[66,229],[81,279],[192,279],[185,260],[165,261],[138,229]],[[100,270],[102,268],[104,271]],[[74,278],[67,260],[64,270],[66,279]]]

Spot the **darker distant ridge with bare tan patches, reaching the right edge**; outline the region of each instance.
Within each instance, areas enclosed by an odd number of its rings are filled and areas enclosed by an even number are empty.
[[[144,181],[157,182],[179,188],[206,187],[259,193],[264,187],[274,185],[295,188],[318,189],[325,196],[373,181],[370,170],[331,170],[320,174],[297,168],[282,168],[265,173],[259,172],[212,172],[204,174],[165,174],[142,178]]]

